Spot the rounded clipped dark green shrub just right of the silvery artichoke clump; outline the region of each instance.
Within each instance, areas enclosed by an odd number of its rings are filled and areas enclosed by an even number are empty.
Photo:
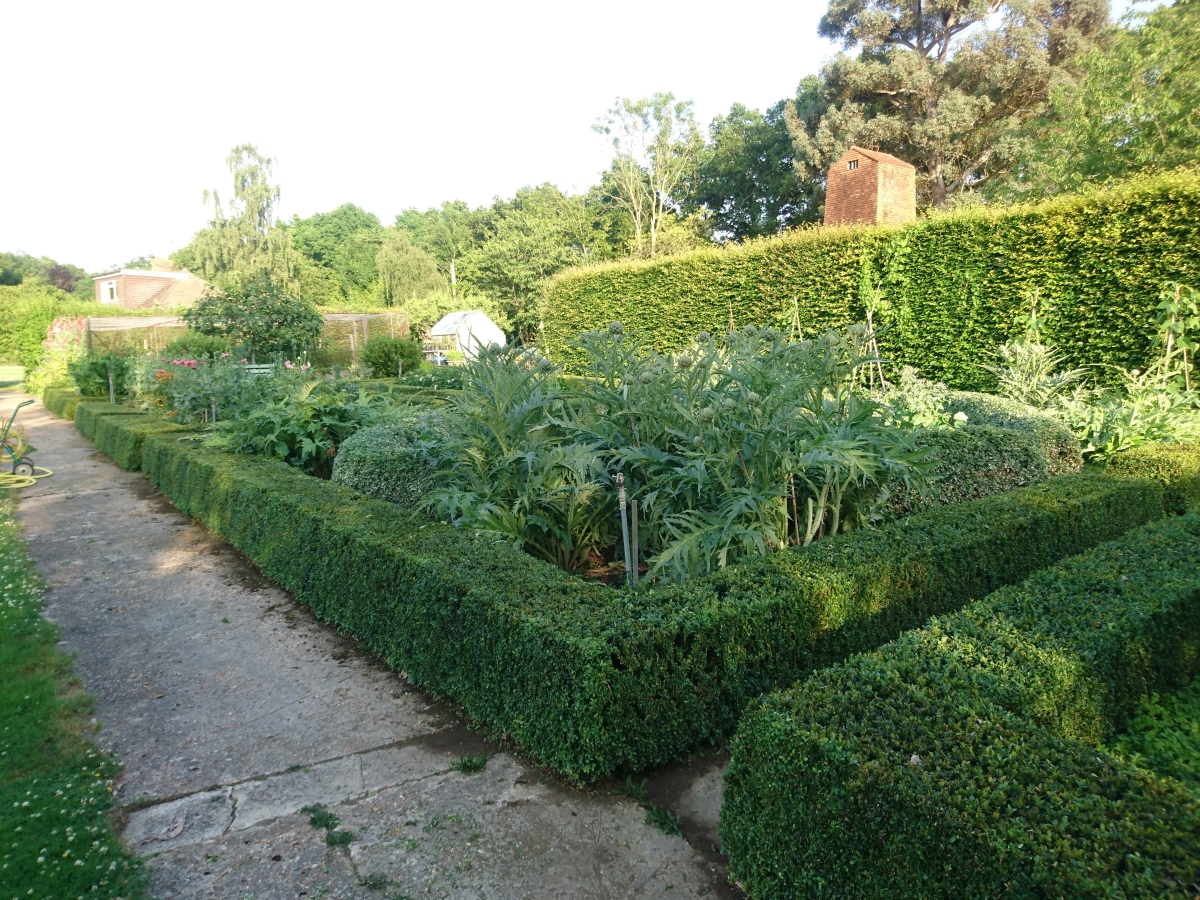
[[[929,454],[932,467],[925,496],[893,485],[895,494],[884,508],[907,515],[935,504],[960,503],[1045,481],[1050,467],[1027,433],[990,425],[962,425],[917,432],[918,450]]]

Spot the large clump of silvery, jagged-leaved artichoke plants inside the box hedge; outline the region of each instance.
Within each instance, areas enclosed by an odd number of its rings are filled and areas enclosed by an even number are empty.
[[[442,515],[566,569],[616,542],[613,479],[641,510],[650,581],[683,581],[880,518],[922,455],[864,382],[862,325],[786,341],[748,325],[674,355],[619,323],[560,373],[499,350],[467,372]]]

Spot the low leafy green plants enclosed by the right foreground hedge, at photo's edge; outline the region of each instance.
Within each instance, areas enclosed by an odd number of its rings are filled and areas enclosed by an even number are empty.
[[[1145,697],[1112,749],[1200,794],[1200,678],[1178,694]]]

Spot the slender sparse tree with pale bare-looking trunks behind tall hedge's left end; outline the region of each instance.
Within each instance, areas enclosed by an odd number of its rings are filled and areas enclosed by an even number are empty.
[[[673,94],[648,100],[622,97],[593,128],[612,139],[613,161],[605,186],[634,222],[637,254],[658,252],[659,224],[678,210],[676,194],[691,175],[703,148],[691,101]]]

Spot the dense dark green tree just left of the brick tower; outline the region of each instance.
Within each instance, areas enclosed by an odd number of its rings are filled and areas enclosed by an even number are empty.
[[[814,79],[815,80],[815,79]],[[707,210],[718,238],[743,240],[775,234],[817,217],[817,186],[792,166],[784,121],[788,101],[766,115],[740,103],[708,127],[708,143],[680,198],[685,212]]]

